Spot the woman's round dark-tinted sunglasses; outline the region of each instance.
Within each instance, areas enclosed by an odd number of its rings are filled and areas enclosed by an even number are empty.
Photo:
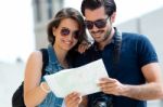
[[[62,28],[60,31],[61,36],[65,37],[71,34],[71,30],[68,28]],[[79,30],[73,31],[72,32],[73,38],[78,39],[79,38]]]

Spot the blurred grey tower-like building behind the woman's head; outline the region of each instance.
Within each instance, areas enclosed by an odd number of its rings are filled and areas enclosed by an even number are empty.
[[[47,24],[63,8],[64,0],[33,0],[36,49],[48,44]]]

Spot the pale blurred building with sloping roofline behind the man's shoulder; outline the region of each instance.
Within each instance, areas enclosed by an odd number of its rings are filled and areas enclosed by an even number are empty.
[[[139,32],[148,36],[150,41],[153,43],[161,67],[163,69],[163,8],[154,10],[150,13],[143,14],[140,17],[127,21],[123,24],[117,25],[122,31]]]

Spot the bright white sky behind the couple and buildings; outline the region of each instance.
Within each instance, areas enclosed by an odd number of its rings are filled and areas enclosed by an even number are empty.
[[[65,0],[65,6],[79,10],[82,0]],[[138,17],[163,6],[163,0],[115,0],[116,23]],[[35,49],[30,0],[2,0],[0,3],[0,62],[26,62]]]

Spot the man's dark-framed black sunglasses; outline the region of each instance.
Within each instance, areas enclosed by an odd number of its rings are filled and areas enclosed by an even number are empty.
[[[98,19],[98,21],[95,21],[95,22],[91,22],[91,21],[85,21],[85,25],[88,29],[92,29],[93,28],[93,25],[97,27],[97,28],[104,28],[105,25],[106,25],[106,21],[108,21],[109,17],[106,17],[105,19]]]

